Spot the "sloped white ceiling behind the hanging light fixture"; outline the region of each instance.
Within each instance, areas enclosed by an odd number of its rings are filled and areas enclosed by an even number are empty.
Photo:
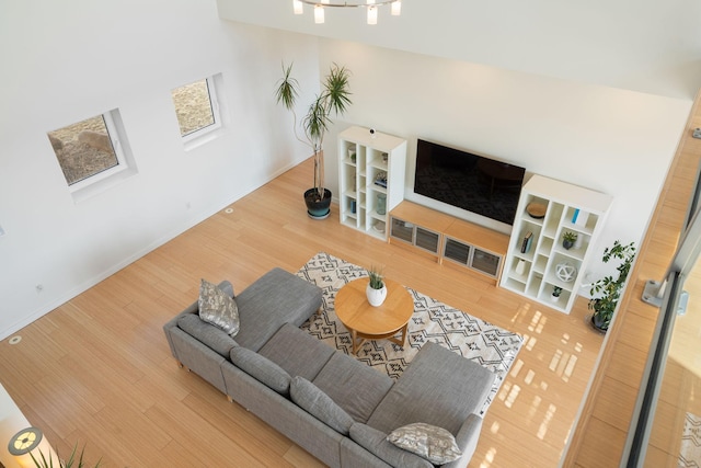
[[[217,0],[225,20],[508,70],[693,100],[701,87],[699,0],[403,0],[402,15],[291,0]]]

